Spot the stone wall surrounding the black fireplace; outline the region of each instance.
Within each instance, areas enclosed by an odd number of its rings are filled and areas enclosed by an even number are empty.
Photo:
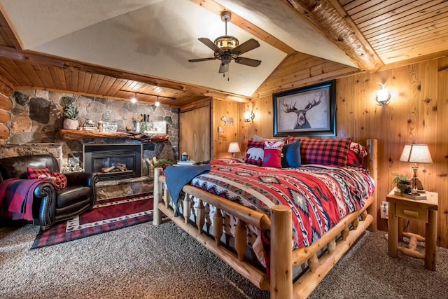
[[[66,140],[60,134],[64,106],[75,102],[79,110],[78,123],[85,120],[99,120],[116,123],[119,129],[132,126],[134,116],[149,114],[151,121],[165,120],[169,144],[174,156],[179,155],[179,109],[149,104],[131,104],[130,102],[98,97],[86,97],[46,90],[18,90],[10,97],[13,108],[10,109],[10,121],[5,125],[10,136],[1,143],[0,157],[52,153],[62,169],[69,160],[82,161],[83,144],[118,144],[123,139],[80,139]],[[125,141],[136,143],[138,141]],[[159,157],[164,143],[142,143],[144,159]],[[143,162],[143,161],[142,161]],[[146,162],[142,163],[143,176],[119,181],[104,181],[97,185],[99,198],[132,195],[152,191],[152,179],[148,176]]]

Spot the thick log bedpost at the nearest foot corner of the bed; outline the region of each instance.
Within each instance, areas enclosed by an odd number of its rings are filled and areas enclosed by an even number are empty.
[[[291,209],[272,207],[271,218],[271,299],[293,298],[293,223]]]

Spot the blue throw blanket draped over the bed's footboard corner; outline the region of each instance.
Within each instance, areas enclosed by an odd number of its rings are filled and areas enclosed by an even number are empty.
[[[167,177],[167,188],[171,195],[174,204],[179,202],[179,195],[181,194],[183,186],[190,183],[196,176],[210,172],[210,164],[207,165],[193,165],[193,166],[169,166],[165,169],[165,176]],[[177,209],[174,211],[174,216],[177,216]]]

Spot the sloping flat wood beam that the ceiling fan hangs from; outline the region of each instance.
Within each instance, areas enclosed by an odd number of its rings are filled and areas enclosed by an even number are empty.
[[[221,15],[222,11],[230,11],[230,9],[225,8],[224,6],[216,3],[213,0],[191,0],[191,1],[193,1],[195,4],[199,6],[202,6],[203,8],[206,8],[208,11],[215,13],[216,15]],[[286,45],[286,43],[283,43],[283,41],[280,41],[275,36],[272,36],[271,34],[265,32],[265,30],[252,24],[248,20],[241,18],[239,15],[237,15],[237,13],[234,13],[233,11],[230,11],[230,13],[232,13],[232,19],[230,20],[232,24],[235,24],[237,27],[252,34],[253,36],[256,36],[257,39],[265,41],[265,43],[269,43],[269,45],[281,50],[286,54],[295,53],[295,50],[293,48]]]

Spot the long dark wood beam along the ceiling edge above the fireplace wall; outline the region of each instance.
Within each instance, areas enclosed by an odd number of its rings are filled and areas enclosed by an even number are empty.
[[[248,97],[234,95],[229,92],[223,92],[221,90],[214,90],[211,88],[204,88],[202,86],[179,83],[176,81],[168,81],[166,79],[158,78],[155,76],[134,74],[118,69],[99,67],[94,64],[87,64],[85,62],[78,62],[76,60],[67,60],[65,58],[43,55],[41,53],[35,53],[31,51],[21,51],[15,50],[13,48],[0,47],[0,57],[6,57],[11,60],[27,62],[30,64],[43,64],[48,67],[57,67],[59,69],[83,71],[92,74],[102,74],[104,76],[137,81],[149,85],[159,86],[161,88],[171,88],[173,90],[179,90],[182,92],[191,92],[196,95],[203,95],[204,97],[210,97],[211,95],[213,95],[213,97],[216,97],[218,99],[232,100],[237,102],[248,102],[249,100]]]

